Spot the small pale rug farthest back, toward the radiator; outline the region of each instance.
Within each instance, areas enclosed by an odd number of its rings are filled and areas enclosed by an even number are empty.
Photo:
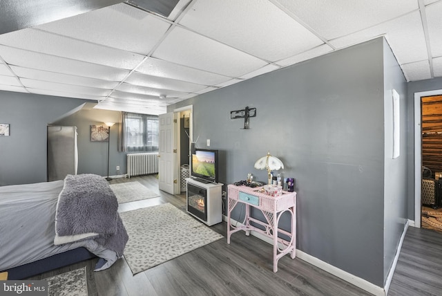
[[[128,203],[131,201],[140,201],[142,199],[160,196],[160,194],[147,189],[137,181],[116,183],[111,184],[110,186],[115,193],[115,196],[117,196],[118,203]]]

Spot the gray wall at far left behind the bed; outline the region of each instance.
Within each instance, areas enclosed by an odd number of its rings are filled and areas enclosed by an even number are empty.
[[[47,124],[84,102],[0,91],[0,123],[10,124],[0,137],[0,185],[46,182]]]

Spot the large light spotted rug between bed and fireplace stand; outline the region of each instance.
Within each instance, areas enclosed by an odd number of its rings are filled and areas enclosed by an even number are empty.
[[[129,235],[124,258],[134,275],[223,237],[170,203],[119,215]]]

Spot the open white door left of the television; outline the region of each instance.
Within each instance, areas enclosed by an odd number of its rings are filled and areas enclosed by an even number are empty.
[[[175,194],[174,188],[177,183],[175,166],[177,163],[175,113],[166,113],[159,116],[160,120],[160,143],[158,153],[158,179],[160,190]]]

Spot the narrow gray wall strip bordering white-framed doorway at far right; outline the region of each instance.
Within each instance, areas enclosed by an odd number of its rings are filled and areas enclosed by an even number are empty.
[[[407,185],[407,214],[408,219],[410,220],[414,220],[414,93],[420,93],[422,91],[435,91],[440,89],[442,89],[442,77],[408,82],[407,84],[407,129],[410,135],[407,140],[407,179],[410,180]]]

